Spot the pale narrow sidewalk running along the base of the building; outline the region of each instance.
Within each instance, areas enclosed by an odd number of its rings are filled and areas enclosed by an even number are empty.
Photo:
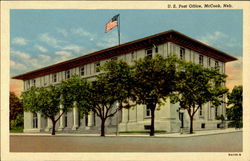
[[[227,128],[227,129],[218,129],[218,130],[204,130],[204,131],[194,131],[193,134],[188,133],[168,133],[168,134],[155,134],[154,137],[195,137],[195,136],[204,136],[204,135],[216,135],[223,133],[232,133],[232,132],[242,132],[242,129]],[[52,136],[50,133],[10,133],[12,136]],[[100,134],[73,134],[73,133],[56,133],[55,136],[100,136]],[[106,134],[106,136],[116,136],[116,134]],[[129,136],[129,137],[148,137],[149,134],[119,134],[119,136]]]

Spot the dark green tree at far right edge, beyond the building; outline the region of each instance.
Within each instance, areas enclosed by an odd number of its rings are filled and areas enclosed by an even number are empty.
[[[232,120],[236,128],[240,128],[242,125],[242,92],[243,87],[235,86],[231,93],[228,93],[228,105],[231,105],[227,109],[227,118]]]

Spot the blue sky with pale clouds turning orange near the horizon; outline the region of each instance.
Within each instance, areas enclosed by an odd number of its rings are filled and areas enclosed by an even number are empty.
[[[120,14],[121,43],[176,30],[224,51],[227,87],[242,84],[242,10],[20,10],[10,11],[10,74],[15,76],[118,44],[117,28],[105,24]],[[11,79],[20,95],[22,81]]]

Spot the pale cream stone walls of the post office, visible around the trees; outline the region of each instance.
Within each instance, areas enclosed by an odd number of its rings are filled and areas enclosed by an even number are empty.
[[[94,80],[95,76],[98,74],[96,67],[104,64],[110,59],[123,59],[131,64],[134,60],[143,58],[151,53],[152,56],[160,54],[164,58],[168,55],[175,55],[180,59],[201,64],[208,68],[219,66],[220,71],[225,73],[226,61],[217,60],[212,56],[209,57],[203,53],[197,52],[198,50],[194,51],[192,48],[178,44],[179,43],[175,43],[174,41],[166,41],[164,43],[157,45],[153,44],[149,47],[133,50],[108,59],[100,59],[95,62],[82,64],[71,69],[49,73],[32,79],[22,78],[24,80],[24,90],[29,90],[31,86],[42,87],[50,84],[57,85],[60,84],[61,81],[68,79],[73,74],[80,75],[82,78]],[[167,132],[178,132],[181,124],[178,108],[178,104],[171,104],[169,100],[165,102],[164,106],[158,107],[157,109],[159,110],[155,111],[155,129],[165,130]],[[215,118],[216,115],[220,116],[221,114],[225,115],[224,104],[215,109],[211,107],[210,103],[207,103],[202,107],[202,110],[198,110],[195,114],[194,130],[217,128],[220,121]],[[150,125],[150,111],[147,110],[145,105],[136,105],[131,109],[122,109],[117,115],[106,121],[106,132],[115,132],[117,123],[119,125],[119,131],[145,130]],[[49,131],[51,126],[50,120],[44,118],[40,113],[24,113],[24,132]],[[186,112],[184,113],[184,127],[189,127],[189,116]],[[57,122],[56,130],[64,132],[96,133],[100,130],[100,120],[93,112],[83,118],[79,118],[77,108],[73,108],[72,111],[67,112],[60,118]]]

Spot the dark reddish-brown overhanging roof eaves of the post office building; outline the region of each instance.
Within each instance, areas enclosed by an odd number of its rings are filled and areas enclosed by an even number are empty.
[[[114,56],[126,54],[135,50],[140,50],[154,45],[159,45],[165,42],[173,42],[185,48],[194,50],[196,52],[202,53],[211,58],[217,59],[222,62],[229,62],[237,60],[235,57],[229,54],[208,46],[200,41],[192,39],[182,33],[175,30],[169,30],[138,40],[130,41],[121,45],[113,46],[107,49],[99,50],[84,56],[80,56],[74,59],[70,59],[61,63],[57,63],[51,66],[40,68],[34,71],[30,71],[24,74],[20,74],[12,77],[13,79],[28,80],[51,73],[60,72],[63,70],[68,70],[77,66],[85,65],[88,63],[100,61],[103,59],[112,58]]]

